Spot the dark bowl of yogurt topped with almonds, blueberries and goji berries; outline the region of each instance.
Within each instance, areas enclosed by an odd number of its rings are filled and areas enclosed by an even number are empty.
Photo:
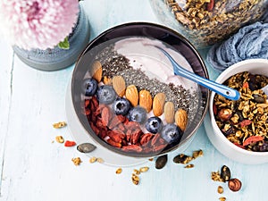
[[[195,48],[171,29],[138,22],[106,30],[80,55],[71,80],[75,113],[97,146],[151,157],[186,147],[194,138],[209,91],[174,75],[155,46],[208,77]]]

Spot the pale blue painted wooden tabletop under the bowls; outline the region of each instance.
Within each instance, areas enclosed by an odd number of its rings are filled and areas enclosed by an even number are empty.
[[[86,0],[82,3],[91,26],[90,40],[105,29],[130,21],[157,21],[148,1]],[[200,50],[203,58],[206,51]],[[148,161],[148,172],[140,175],[139,185],[131,173],[141,165],[117,167],[89,163],[75,148],[63,147],[55,136],[72,139],[70,130],[54,130],[52,124],[65,121],[65,93],[73,65],[62,71],[45,72],[29,68],[0,39],[0,201],[212,201],[219,197],[233,201],[264,201],[267,198],[268,164],[245,165],[221,155],[210,143],[204,125],[184,154],[202,149],[204,156],[193,161],[195,167],[169,162],[162,170]],[[207,63],[206,63],[207,64]],[[207,64],[211,79],[217,73]],[[75,166],[71,159],[80,157]],[[227,183],[211,180],[211,172],[222,165],[242,181],[239,192]],[[220,195],[218,186],[224,188]]]

